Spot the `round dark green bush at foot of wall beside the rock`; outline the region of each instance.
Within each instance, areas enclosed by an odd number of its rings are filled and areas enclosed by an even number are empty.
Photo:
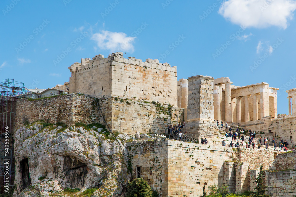
[[[152,192],[151,187],[143,178],[136,178],[128,183],[126,197],[153,197],[158,196],[156,192]]]

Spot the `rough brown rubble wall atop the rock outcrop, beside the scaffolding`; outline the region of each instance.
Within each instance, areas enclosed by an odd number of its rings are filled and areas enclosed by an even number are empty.
[[[85,95],[61,95],[49,99],[28,101],[18,99],[16,104],[15,128],[19,128],[28,120],[30,123],[44,120],[49,123],[63,122],[74,124],[83,122],[90,124],[98,121],[98,113],[92,103],[94,99]]]

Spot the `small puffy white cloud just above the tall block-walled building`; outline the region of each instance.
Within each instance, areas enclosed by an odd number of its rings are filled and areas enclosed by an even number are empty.
[[[98,47],[104,50],[133,52],[133,42],[136,37],[127,36],[123,32],[110,32],[103,30],[92,35],[91,40],[96,41]]]

